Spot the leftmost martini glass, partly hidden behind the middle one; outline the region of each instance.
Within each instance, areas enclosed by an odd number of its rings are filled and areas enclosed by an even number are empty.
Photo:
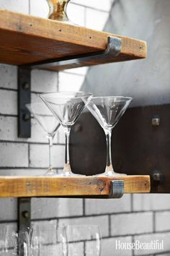
[[[48,137],[49,142],[49,167],[45,175],[53,176],[56,175],[55,170],[53,170],[51,164],[51,148],[53,146],[53,139],[57,132],[58,127],[60,126],[59,122],[51,114],[51,111],[45,105],[45,103],[31,103],[27,104],[26,107],[29,109],[30,113],[35,117],[37,122],[42,127],[45,135]]]

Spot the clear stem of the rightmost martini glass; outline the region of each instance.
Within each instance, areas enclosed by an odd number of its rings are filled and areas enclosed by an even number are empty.
[[[111,153],[112,129],[105,129],[104,132],[107,140],[107,166],[105,169],[105,173],[114,173],[114,169],[112,166],[112,153]]]

